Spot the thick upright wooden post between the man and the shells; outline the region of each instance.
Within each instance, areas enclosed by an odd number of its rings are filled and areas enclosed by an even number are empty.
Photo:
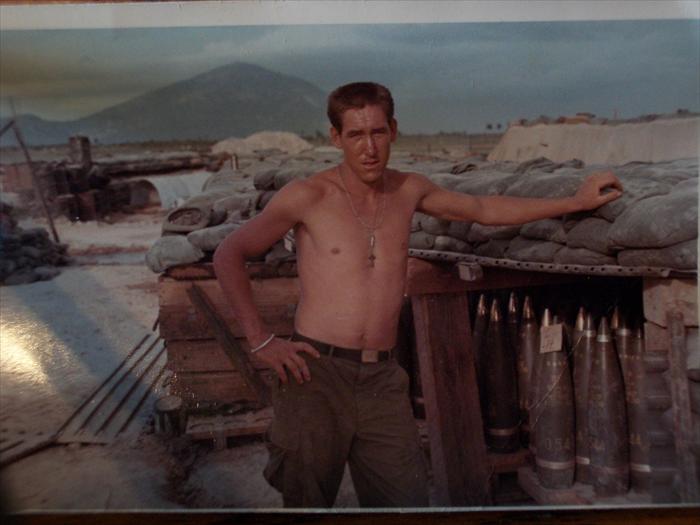
[[[462,281],[463,282],[463,281]],[[491,500],[466,294],[411,299],[436,505]]]

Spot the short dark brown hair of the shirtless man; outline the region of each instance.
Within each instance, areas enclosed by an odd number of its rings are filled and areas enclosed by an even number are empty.
[[[348,109],[362,109],[365,106],[381,106],[387,122],[394,118],[394,99],[391,92],[375,82],[353,82],[333,90],[328,95],[328,120],[338,131],[343,128],[343,113]]]

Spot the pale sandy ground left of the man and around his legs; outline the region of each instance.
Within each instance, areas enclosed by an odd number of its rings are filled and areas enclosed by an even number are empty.
[[[113,224],[58,221],[75,264],[0,288],[0,440],[50,436],[152,329],[157,275],[144,264],[163,212]],[[25,220],[22,226],[42,225]],[[261,440],[223,451],[153,431],[152,403],[109,445],[55,445],[0,470],[10,511],[279,508]],[[2,441],[0,441],[2,443]],[[356,507],[346,476],[336,503]]]

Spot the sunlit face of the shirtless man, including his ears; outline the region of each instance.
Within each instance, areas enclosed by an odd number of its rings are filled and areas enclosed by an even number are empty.
[[[343,130],[331,127],[333,144],[342,149],[345,163],[362,182],[379,180],[396,140],[396,120],[387,122],[381,106],[348,109],[342,115]]]

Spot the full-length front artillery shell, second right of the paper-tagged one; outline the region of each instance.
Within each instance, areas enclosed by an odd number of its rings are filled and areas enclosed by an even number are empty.
[[[596,336],[588,390],[588,434],[593,489],[598,496],[629,487],[629,439],[622,372],[605,316]]]

